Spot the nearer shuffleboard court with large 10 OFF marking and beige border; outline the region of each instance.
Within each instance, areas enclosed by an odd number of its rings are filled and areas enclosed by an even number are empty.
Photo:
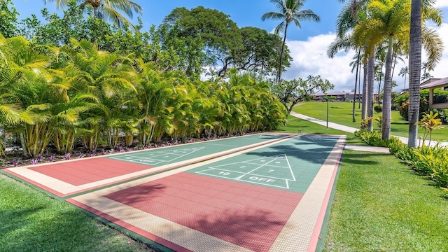
[[[174,251],[314,251],[345,137],[282,139],[68,199]]]

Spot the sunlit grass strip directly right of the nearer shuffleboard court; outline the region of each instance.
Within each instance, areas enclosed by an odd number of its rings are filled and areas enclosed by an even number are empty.
[[[448,200],[392,155],[344,151],[324,251],[448,251]]]

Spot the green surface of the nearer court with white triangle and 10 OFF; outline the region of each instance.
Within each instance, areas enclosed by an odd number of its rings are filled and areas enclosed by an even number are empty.
[[[338,140],[295,137],[187,172],[305,193]]]

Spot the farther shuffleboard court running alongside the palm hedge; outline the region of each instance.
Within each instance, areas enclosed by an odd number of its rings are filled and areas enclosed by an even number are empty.
[[[66,162],[14,167],[3,169],[2,172],[59,197],[66,197],[292,136],[253,134]]]

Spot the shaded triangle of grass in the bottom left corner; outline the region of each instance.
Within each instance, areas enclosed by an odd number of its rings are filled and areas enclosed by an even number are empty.
[[[0,251],[148,251],[75,207],[0,174]]]

